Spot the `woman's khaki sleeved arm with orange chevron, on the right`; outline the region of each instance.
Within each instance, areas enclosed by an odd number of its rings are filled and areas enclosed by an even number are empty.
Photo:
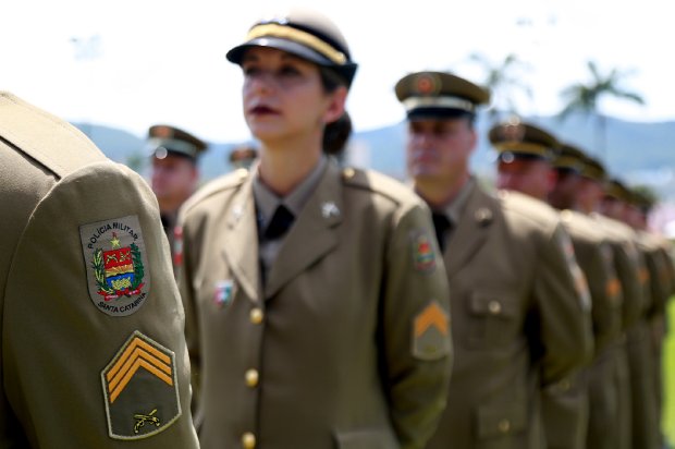
[[[445,406],[452,362],[447,278],[428,210],[394,218],[380,338],[391,418],[402,448],[422,448]]]

